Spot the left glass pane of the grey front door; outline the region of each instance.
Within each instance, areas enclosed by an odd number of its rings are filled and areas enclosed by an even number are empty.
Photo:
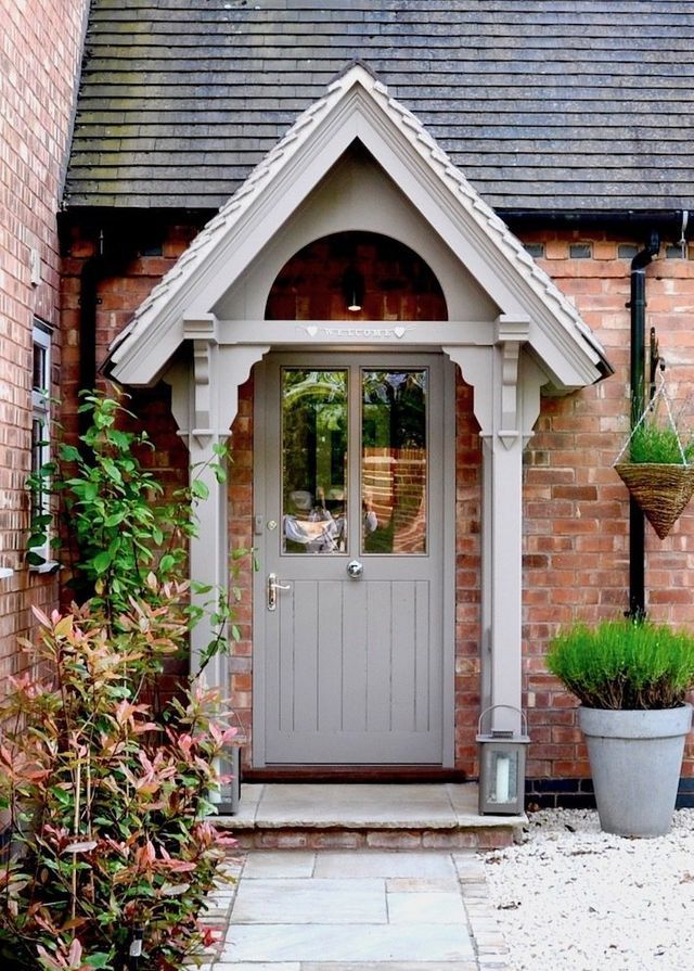
[[[282,369],[285,553],[347,549],[347,370]]]

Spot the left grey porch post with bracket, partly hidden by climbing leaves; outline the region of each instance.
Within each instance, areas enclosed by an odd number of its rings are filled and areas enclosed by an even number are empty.
[[[190,452],[190,476],[207,486],[208,497],[197,507],[197,535],[190,541],[190,577],[211,587],[208,593],[191,592],[191,602],[204,613],[191,633],[191,674],[200,670],[208,644],[227,631],[209,618],[211,601],[229,590],[228,489],[218,482],[214,465],[219,462],[215,448],[227,443],[239,410],[239,385],[254,363],[269,350],[266,346],[217,343],[215,317],[204,315],[185,320],[185,337],[192,345],[190,363],[177,363],[165,381],[171,385],[171,410],[179,434]],[[206,680],[222,692],[229,690],[228,659],[217,654],[206,667]]]

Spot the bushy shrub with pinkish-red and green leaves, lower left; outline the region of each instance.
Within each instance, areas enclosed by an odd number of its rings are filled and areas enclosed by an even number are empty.
[[[188,634],[184,588],[150,584],[159,605],[133,602],[118,635],[90,605],[36,611],[44,676],[11,679],[0,703],[3,968],[126,971],[142,935],[138,967],[155,971],[209,943],[197,915],[227,846],[207,798],[235,729],[200,683],[147,702]]]

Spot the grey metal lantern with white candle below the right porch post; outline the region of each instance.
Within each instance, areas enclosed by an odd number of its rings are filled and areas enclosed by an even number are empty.
[[[485,715],[494,708],[510,708],[520,715],[523,734],[514,731],[491,731],[483,734]],[[479,716],[479,815],[519,816],[524,812],[525,755],[530,743],[526,717],[513,705],[491,705]]]

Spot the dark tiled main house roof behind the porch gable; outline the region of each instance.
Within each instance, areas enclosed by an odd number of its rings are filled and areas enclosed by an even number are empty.
[[[65,205],[218,208],[356,59],[502,214],[694,208],[687,0],[93,0]]]

